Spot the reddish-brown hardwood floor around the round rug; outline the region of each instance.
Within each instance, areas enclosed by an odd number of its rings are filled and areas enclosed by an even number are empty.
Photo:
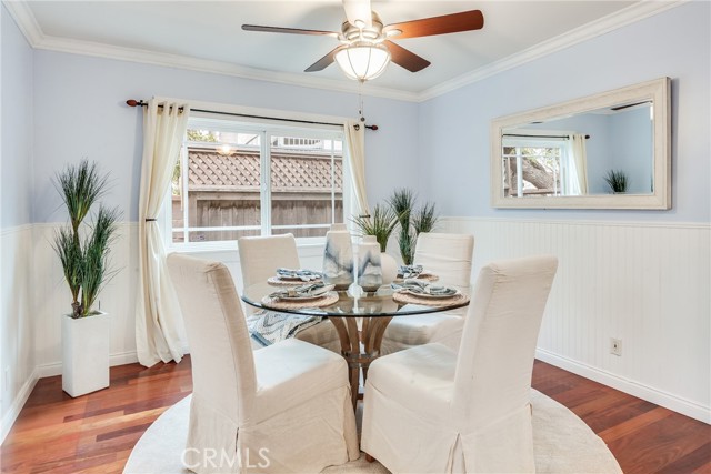
[[[711,426],[537,361],[533,387],[572,410],[625,473],[711,473]],[[78,399],[61,377],[37,383],[1,450],[2,473],[120,473],[150,424],[192,389],[180,364],[111,369],[111,386]]]

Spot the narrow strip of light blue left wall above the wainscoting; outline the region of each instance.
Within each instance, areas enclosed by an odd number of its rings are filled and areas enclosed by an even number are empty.
[[[2,148],[0,202],[2,229],[32,222],[32,49],[2,12]]]

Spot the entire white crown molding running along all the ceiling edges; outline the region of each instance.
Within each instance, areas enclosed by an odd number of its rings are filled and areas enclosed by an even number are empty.
[[[611,13],[597,21],[590,22],[555,38],[549,39],[512,54],[502,60],[478,68],[471,72],[442,82],[421,92],[408,92],[391,88],[381,88],[370,82],[362,89],[363,95],[380,97],[408,102],[424,102],[435,97],[469,85],[482,79],[515,68],[541,57],[561,51],[573,44],[593,39],[612,30],[625,27],[672,8],[679,7],[692,0],[647,0],[634,3],[618,12]],[[179,68],[199,72],[208,72],[222,75],[231,75],[241,79],[268,81],[287,85],[300,85],[312,89],[322,89],[337,92],[358,93],[358,83],[354,81],[342,82],[324,78],[306,78],[301,74],[289,72],[276,72],[262,69],[247,68],[224,61],[192,58],[181,54],[161,53],[134,48],[116,47],[104,43],[81,41],[68,38],[59,38],[44,34],[40,28],[27,0],[3,0],[3,4],[14,19],[18,28],[24,34],[30,46],[34,49],[43,49],[72,54],[91,56],[97,58],[113,59],[120,61],[139,62],[144,64]]]

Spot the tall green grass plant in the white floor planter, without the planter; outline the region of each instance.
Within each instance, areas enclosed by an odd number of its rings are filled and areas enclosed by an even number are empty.
[[[96,163],[82,160],[57,173],[54,185],[62,198],[69,223],[54,233],[53,248],[64,272],[72,296],[71,317],[86,317],[94,313],[99,292],[117,271],[110,269],[111,244],[116,240],[118,208],[99,204],[93,223],[82,223],[91,208],[106,193],[108,174],[100,174]]]

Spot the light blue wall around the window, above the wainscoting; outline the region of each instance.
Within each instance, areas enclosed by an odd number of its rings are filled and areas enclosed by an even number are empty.
[[[356,84],[354,84],[356,85]],[[108,205],[138,219],[141,112],[127,99],[152,95],[339,117],[358,115],[358,95],[228,75],[161,68],[76,54],[34,51],[34,189],[37,222],[63,220],[51,175],[81,158],[110,171],[116,186]],[[374,203],[393,186],[418,182],[418,104],[364,98],[368,194]]]

